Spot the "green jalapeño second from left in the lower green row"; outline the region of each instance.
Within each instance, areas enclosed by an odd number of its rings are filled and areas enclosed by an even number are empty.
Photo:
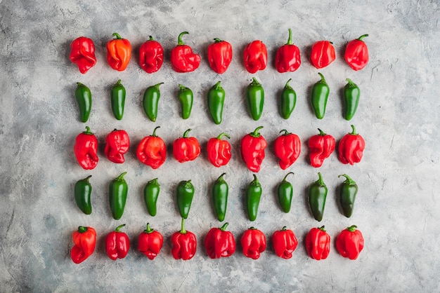
[[[123,172],[121,175],[119,175],[119,177],[110,182],[108,198],[113,219],[121,219],[122,214],[124,214],[125,203],[127,202],[127,193],[129,190],[127,182],[125,182],[124,179],[124,175],[126,174],[127,172]]]

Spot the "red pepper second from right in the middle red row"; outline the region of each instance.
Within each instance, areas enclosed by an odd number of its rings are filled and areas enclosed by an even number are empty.
[[[314,168],[319,168],[323,165],[324,160],[335,151],[336,142],[335,137],[328,135],[319,129],[318,135],[313,135],[309,139],[309,158],[310,165]]]

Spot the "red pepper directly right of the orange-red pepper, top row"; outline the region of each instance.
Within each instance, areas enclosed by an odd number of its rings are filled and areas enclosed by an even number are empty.
[[[152,74],[162,67],[163,62],[164,48],[150,36],[139,48],[139,65],[145,72]]]

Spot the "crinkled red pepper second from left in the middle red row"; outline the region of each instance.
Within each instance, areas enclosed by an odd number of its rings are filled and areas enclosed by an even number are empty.
[[[125,130],[113,130],[105,137],[105,156],[113,163],[124,163],[124,154],[129,151],[130,138]]]

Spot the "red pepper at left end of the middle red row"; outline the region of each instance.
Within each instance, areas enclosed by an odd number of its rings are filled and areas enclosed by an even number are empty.
[[[86,126],[86,131],[77,135],[73,152],[83,169],[92,170],[98,165],[98,139],[90,131],[89,126]]]

